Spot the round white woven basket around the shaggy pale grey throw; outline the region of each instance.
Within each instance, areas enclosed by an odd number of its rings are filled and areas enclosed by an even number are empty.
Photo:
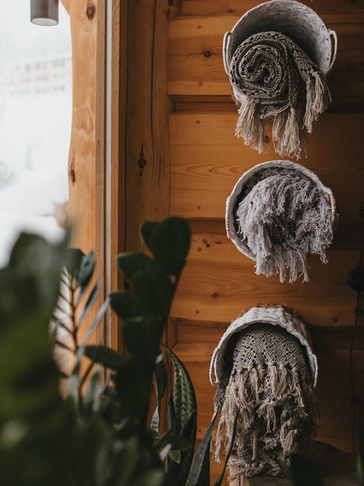
[[[334,227],[336,223],[336,203],[335,203],[335,198],[334,195],[331,191],[331,189],[325,187],[320,179],[317,177],[316,174],[314,174],[312,171],[304,167],[303,165],[300,165],[296,162],[291,162],[290,160],[270,160],[268,162],[263,162],[262,164],[258,164],[251,169],[249,169],[247,172],[245,172],[240,179],[237,181],[237,183],[234,186],[234,189],[232,190],[232,193],[226,200],[226,213],[225,213],[225,224],[226,224],[226,234],[228,238],[234,243],[236,248],[249,257],[251,260],[256,261],[255,255],[252,253],[252,251],[249,249],[246,243],[242,242],[241,239],[239,238],[236,228],[235,228],[235,205],[237,202],[238,197],[240,196],[243,187],[247,184],[248,180],[258,172],[262,172],[265,169],[269,169],[271,167],[280,167],[282,169],[291,169],[294,171],[301,172],[304,174],[306,177],[309,177],[323,192],[323,194],[326,194],[327,197],[330,199],[331,203],[331,226]]]

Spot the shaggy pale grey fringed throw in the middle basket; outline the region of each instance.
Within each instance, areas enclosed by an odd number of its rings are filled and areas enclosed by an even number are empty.
[[[307,256],[327,262],[332,243],[331,202],[327,194],[299,171],[270,168],[255,174],[238,199],[235,226],[255,255],[256,273],[280,274],[283,282],[303,275],[308,281]]]

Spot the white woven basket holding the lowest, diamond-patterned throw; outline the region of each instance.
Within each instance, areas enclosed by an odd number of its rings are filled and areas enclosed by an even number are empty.
[[[244,312],[242,315],[232,321],[228,329],[222,335],[220,342],[212,355],[210,364],[211,384],[217,386],[222,378],[225,364],[225,349],[232,335],[235,332],[248,328],[251,326],[251,324],[257,323],[281,326],[281,328],[287,330],[290,334],[298,338],[305,350],[307,362],[311,370],[313,385],[315,387],[317,382],[318,367],[317,357],[312,350],[310,333],[302,317],[284,306],[252,307],[247,312]]]

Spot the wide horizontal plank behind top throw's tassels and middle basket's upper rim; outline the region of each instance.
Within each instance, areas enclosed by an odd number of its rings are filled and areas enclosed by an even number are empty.
[[[258,163],[280,158],[270,142],[263,154],[244,145],[234,135],[236,121],[237,114],[232,113],[170,115],[171,214],[225,218],[226,198],[240,175]],[[308,140],[308,158],[299,160],[332,189],[343,225],[359,223],[364,196],[363,122],[363,114],[325,114]],[[270,127],[266,134],[270,140]]]

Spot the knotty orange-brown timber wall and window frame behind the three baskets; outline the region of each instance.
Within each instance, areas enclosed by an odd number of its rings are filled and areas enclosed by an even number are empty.
[[[276,277],[256,276],[254,263],[238,252],[225,233],[225,201],[236,180],[253,165],[276,158],[269,128],[267,150],[261,155],[234,137],[236,107],[222,64],[224,33],[258,3],[121,0],[118,5],[113,0],[119,16],[119,22],[113,23],[113,55],[119,59],[112,79],[114,88],[116,80],[119,85],[113,89],[112,184],[118,195],[112,194],[112,248],[141,249],[138,227],[145,219],[173,214],[187,218],[191,225],[192,247],[166,339],[195,385],[199,439],[213,412],[215,388],[209,383],[208,367],[221,334],[247,307],[285,303],[311,324],[319,359],[319,438],[350,451],[348,350],[356,295],[346,278],[359,255],[358,209],[364,199],[364,0],[304,0],[336,30],[339,50],[329,79],[333,105],[309,139],[307,159],[300,162],[331,187],[340,213],[340,226],[328,252],[330,262],[322,265],[310,258],[310,282],[305,284],[281,284]],[[97,79],[103,76],[96,62],[98,6],[96,0],[70,2],[77,45],[70,200],[71,215],[78,219],[75,242],[84,251],[103,247],[96,221],[104,187],[95,128],[99,126]],[[102,220],[102,214],[99,217]],[[117,280],[115,272],[112,279]],[[113,326],[115,344],[115,321]],[[359,426],[364,422],[361,329],[353,357]],[[212,479],[220,469],[221,465],[212,463]]]

